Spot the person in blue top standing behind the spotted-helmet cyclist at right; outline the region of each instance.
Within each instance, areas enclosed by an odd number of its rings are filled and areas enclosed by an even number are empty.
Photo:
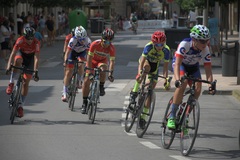
[[[209,13],[210,18],[208,19],[208,28],[211,34],[210,38],[210,49],[212,57],[215,57],[216,54],[220,55],[219,47],[219,20],[214,17],[213,12]]]

